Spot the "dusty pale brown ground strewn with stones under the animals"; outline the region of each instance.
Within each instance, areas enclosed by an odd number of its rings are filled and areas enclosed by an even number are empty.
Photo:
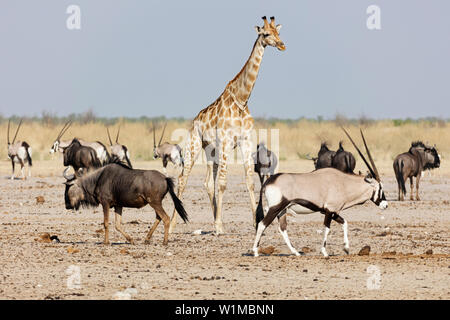
[[[160,164],[135,166],[159,168]],[[281,164],[281,171],[310,169],[306,161]],[[384,212],[367,203],[344,212],[351,254],[344,255],[342,229],[332,224],[328,251],[333,256],[329,259],[319,252],[320,214],[288,218],[293,245],[307,247],[305,252],[310,249],[305,256],[289,254],[276,222],[261,242],[261,247],[273,246],[274,251],[258,258],[249,255],[254,229],[243,170],[238,166],[230,170],[224,199],[227,234],[217,237],[211,233],[213,219],[203,188],[204,167],[197,166],[183,197],[191,222],[178,225],[167,247],[162,246],[162,226],[151,245],[143,244],[155,219],[150,207],[124,210],[125,229],[137,240],[136,245],[126,244],[114,228],[113,245],[101,244],[100,209],[64,209],[59,160],[37,161],[35,175],[26,181],[7,180],[9,170],[8,162],[0,163],[2,299],[450,298],[448,168],[423,178],[420,202],[390,201]],[[381,171],[388,200],[395,200],[390,164],[381,166]],[[38,196],[44,198],[43,203],[36,203]],[[165,208],[172,213],[169,199]],[[199,229],[203,230],[201,235],[192,234]],[[41,233],[56,235],[61,242],[36,241]],[[359,256],[366,245],[371,247],[370,255]],[[430,249],[432,254],[425,254]]]

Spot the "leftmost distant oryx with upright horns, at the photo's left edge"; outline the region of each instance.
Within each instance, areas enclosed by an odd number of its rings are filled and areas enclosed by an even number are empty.
[[[19,126],[17,127],[16,134],[14,135],[13,141],[9,142],[9,128],[11,120],[8,121],[8,159],[11,159],[12,164],[12,175],[11,180],[14,180],[14,168],[16,163],[20,163],[20,170],[22,172],[22,179],[25,179],[24,166],[28,163],[28,176],[31,177],[31,166],[33,161],[31,159],[32,150],[28,143],[25,141],[17,141],[17,134],[19,133],[20,126],[22,125],[22,120],[20,120]]]

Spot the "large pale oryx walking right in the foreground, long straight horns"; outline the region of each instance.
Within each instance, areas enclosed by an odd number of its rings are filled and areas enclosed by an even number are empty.
[[[289,241],[286,230],[287,210],[296,214],[320,212],[325,215],[325,230],[321,252],[327,257],[328,253],[325,247],[331,220],[342,224],[344,230],[344,251],[347,254],[350,251],[347,236],[347,221],[340,216],[341,211],[363,204],[367,200],[371,200],[381,209],[387,208],[388,203],[384,195],[380,175],[367,148],[362,130],[361,136],[371,165],[369,165],[347,131],[345,133],[364,160],[371,176],[362,177],[343,173],[334,168],[324,168],[310,173],[278,173],[270,177],[261,188],[259,204],[256,211],[258,224],[253,245],[255,256],[258,256],[258,245],[264,230],[272,223],[275,217],[279,220],[279,230],[287,246],[292,253],[297,256],[300,255]],[[264,216],[262,205],[263,193],[266,196],[269,206],[266,216]]]

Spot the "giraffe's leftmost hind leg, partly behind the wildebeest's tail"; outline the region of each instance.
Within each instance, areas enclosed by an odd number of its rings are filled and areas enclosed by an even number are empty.
[[[187,179],[189,174],[191,173],[192,167],[194,166],[195,160],[197,159],[200,151],[202,149],[202,140],[200,138],[199,133],[194,128],[191,131],[191,135],[189,136],[189,141],[186,143],[186,151],[184,156],[184,169],[178,177],[178,191],[177,197],[181,199],[181,195],[183,194],[184,188],[187,184]],[[170,221],[169,233],[173,232],[175,226],[177,225],[177,212],[173,209],[172,218]]]

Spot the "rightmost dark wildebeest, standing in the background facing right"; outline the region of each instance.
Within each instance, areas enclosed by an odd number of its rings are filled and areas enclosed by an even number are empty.
[[[419,182],[424,170],[439,168],[441,156],[435,147],[426,146],[422,141],[411,143],[408,152],[399,154],[394,159],[394,172],[398,184],[398,200],[403,201],[406,195],[405,181],[409,178],[411,183],[411,196],[413,197],[413,177],[416,177],[416,200],[419,197]]]

